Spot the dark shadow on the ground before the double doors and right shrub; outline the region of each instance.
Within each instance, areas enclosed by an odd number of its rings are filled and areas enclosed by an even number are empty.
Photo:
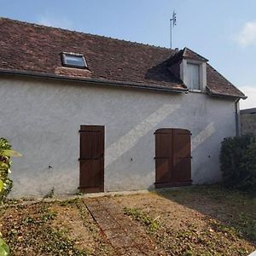
[[[232,237],[236,232],[236,236],[246,239],[256,247],[255,195],[224,189],[221,185],[159,190],[157,195],[206,215],[202,218],[207,220],[208,228],[214,232]]]

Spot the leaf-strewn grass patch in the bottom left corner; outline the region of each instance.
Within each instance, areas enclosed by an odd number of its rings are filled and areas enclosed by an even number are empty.
[[[3,237],[9,244],[11,255],[89,255],[79,250],[66,232],[51,226],[57,213],[50,206],[41,203],[10,208],[11,215],[3,218]],[[5,213],[9,213],[8,209]]]

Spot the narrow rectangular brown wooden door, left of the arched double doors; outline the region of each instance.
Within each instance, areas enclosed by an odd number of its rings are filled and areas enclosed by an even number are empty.
[[[83,192],[104,191],[104,126],[81,125],[80,186]]]

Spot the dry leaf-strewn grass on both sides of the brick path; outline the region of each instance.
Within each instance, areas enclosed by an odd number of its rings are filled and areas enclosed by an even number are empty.
[[[256,249],[253,195],[213,186],[104,200],[168,255],[247,255]],[[10,202],[0,211],[0,223],[12,255],[117,255],[80,199]]]

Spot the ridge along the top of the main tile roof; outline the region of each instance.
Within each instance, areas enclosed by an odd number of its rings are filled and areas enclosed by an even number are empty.
[[[89,35],[91,37],[96,37],[96,38],[106,38],[108,40],[119,41],[119,42],[123,42],[125,44],[134,44],[134,45],[144,46],[144,47],[153,48],[153,49],[155,49],[155,48],[156,49],[163,49],[163,50],[169,50],[171,52],[176,51],[176,49],[170,49],[170,48],[166,48],[166,47],[163,47],[163,46],[156,46],[156,45],[153,45],[153,44],[143,44],[143,43],[133,42],[133,41],[129,41],[129,40],[125,40],[125,39],[119,39],[119,38],[111,38],[111,37],[106,37],[106,36],[103,36],[103,35],[92,34],[92,33],[89,33],[89,32],[79,32],[79,31],[76,31],[76,30],[70,30],[70,29],[62,28],[62,27],[46,26],[46,25],[42,25],[42,24],[38,24],[38,23],[32,23],[32,22],[23,21],[23,20],[13,20],[13,19],[6,18],[6,17],[1,17],[1,16],[0,16],[0,20],[8,20],[8,21],[11,21],[11,22],[26,24],[26,25],[29,25],[29,26],[39,26],[39,27],[43,27],[45,29],[55,29],[55,30],[64,31],[64,32],[72,32],[72,33],[78,33],[78,34],[82,34],[82,35]]]

